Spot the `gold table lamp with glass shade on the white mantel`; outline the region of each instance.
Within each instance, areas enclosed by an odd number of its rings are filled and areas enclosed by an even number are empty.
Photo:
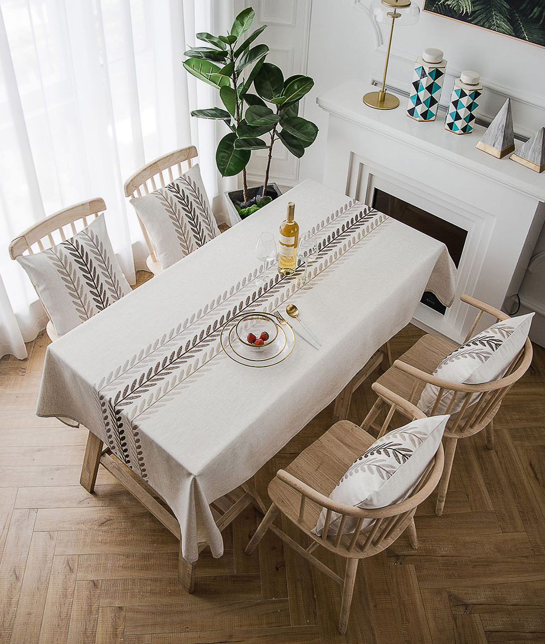
[[[369,91],[363,102],[370,108],[394,109],[399,105],[399,99],[394,94],[388,93],[386,88],[386,73],[388,71],[388,60],[390,59],[390,48],[392,47],[392,35],[394,35],[394,24],[414,24],[418,22],[420,9],[410,0],[374,0],[370,6],[370,13],[378,23],[390,24],[390,37],[388,37],[388,49],[384,63],[384,75],[382,88],[379,91]]]

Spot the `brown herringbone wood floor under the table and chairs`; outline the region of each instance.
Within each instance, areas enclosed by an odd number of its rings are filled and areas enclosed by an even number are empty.
[[[394,355],[421,332],[406,327]],[[545,641],[545,351],[508,395],[496,447],[459,442],[442,517],[419,508],[420,548],[405,535],[360,565],[346,636],[339,588],[274,535],[243,549],[258,517],[225,531],[225,555],[206,552],[193,596],[177,585],[178,544],[104,469],[91,496],[78,484],[86,430],[33,410],[42,334],[26,361],[0,361],[0,643],[260,644]],[[372,381],[372,379],[370,380]],[[372,395],[364,384],[350,419]],[[323,410],[256,475],[267,482],[331,424]],[[284,524],[290,535],[292,526]],[[343,563],[321,554],[342,572]]]

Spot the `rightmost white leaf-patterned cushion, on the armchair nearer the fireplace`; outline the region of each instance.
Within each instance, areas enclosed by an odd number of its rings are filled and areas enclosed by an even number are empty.
[[[501,378],[524,346],[530,332],[533,313],[499,321],[471,337],[464,345],[448,354],[434,370],[433,375],[452,383],[489,383]],[[434,407],[439,388],[426,384],[417,407],[430,413]],[[479,397],[474,393],[469,404]],[[441,395],[435,413],[445,413],[452,401],[452,391]],[[459,412],[464,404],[464,395],[458,394],[450,413]]]

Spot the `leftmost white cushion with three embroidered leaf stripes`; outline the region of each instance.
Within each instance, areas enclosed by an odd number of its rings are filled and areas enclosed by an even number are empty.
[[[17,261],[59,336],[131,291],[117,263],[104,215],[66,242]]]

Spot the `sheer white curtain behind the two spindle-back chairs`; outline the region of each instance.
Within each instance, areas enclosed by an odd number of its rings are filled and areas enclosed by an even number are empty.
[[[193,144],[210,198],[234,187],[215,167],[223,133],[191,109],[214,89],[182,66],[195,32],[227,30],[225,0],[0,0],[0,355],[46,316],[8,244],[47,214],[106,201],[113,248],[129,282],[144,246],[123,182],[144,163]],[[133,253],[134,251],[134,253]]]

